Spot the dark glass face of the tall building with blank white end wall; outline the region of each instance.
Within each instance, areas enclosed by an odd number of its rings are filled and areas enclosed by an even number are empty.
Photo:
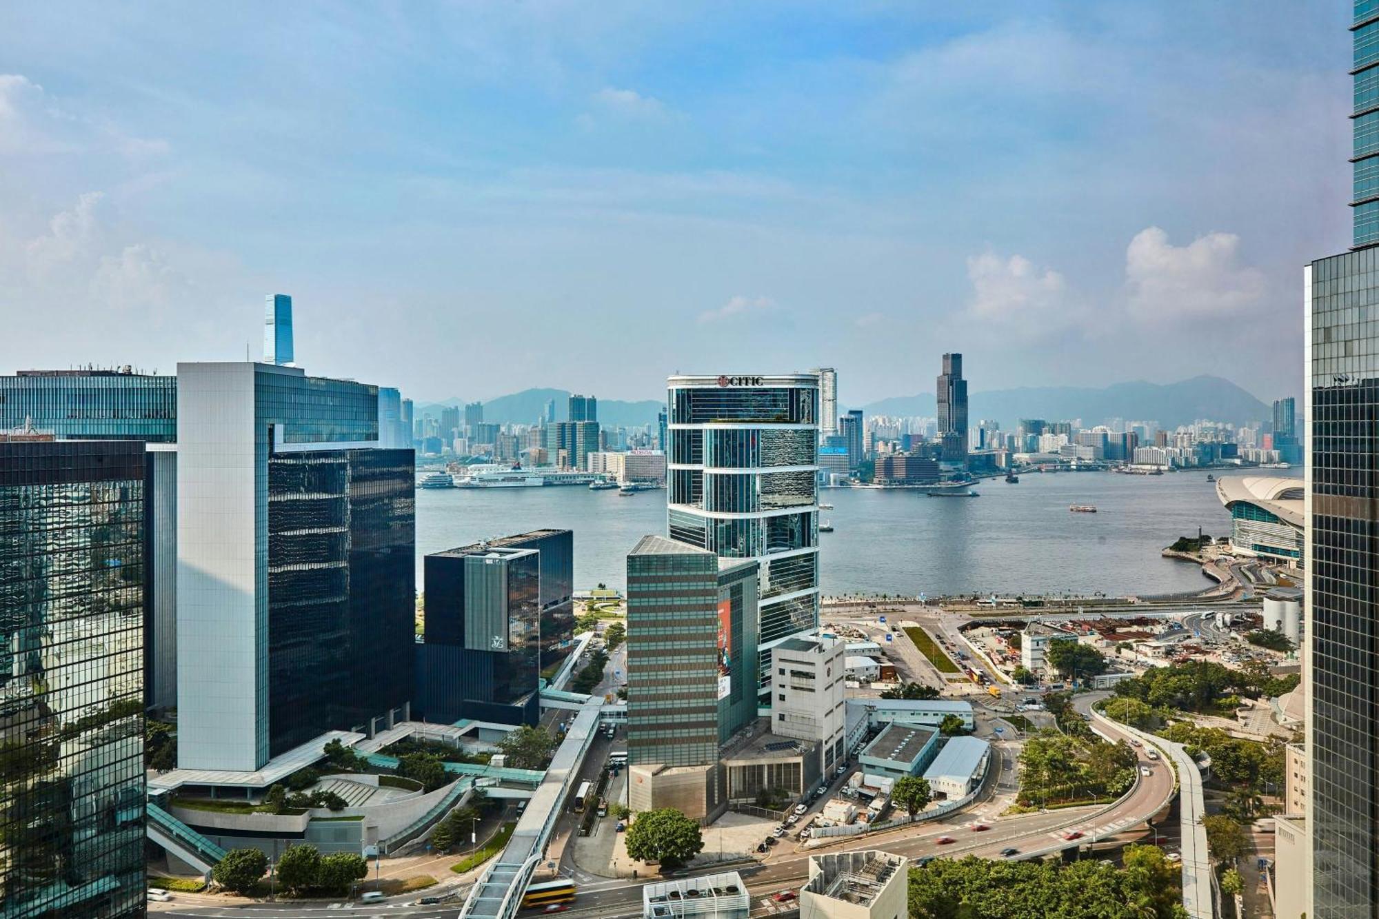
[[[269,756],[365,726],[412,695],[411,450],[268,464]]]

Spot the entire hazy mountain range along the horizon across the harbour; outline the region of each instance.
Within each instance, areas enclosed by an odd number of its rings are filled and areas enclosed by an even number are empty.
[[[570,417],[568,389],[524,389],[484,403],[484,421],[535,422],[546,410],[546,402],[556,400],[556,421]],[[1063,421],[1081,418],[1088,426],[1110,418],[1125,421],[1157,421],[1160,426],[1172,428],[1190,424],[1198,418],[1230,421],[1263,421],[1273,410],[1236,384],[1220,377],[1201,375],[1175,384],[1151,384],[1145,381],[1113,384],[1103,388],[1089,386],[1020,386],[1018,389],[992,389],[974,392],[968,397],[968,418],[972,425],[983,418],[998,421],[1003,429],[1014,429],[1020,418],[1044,418]],[[445,406],[463,406],[465,400],[452,397],[416,406],[416,417],[439,417]],[[656,413],[665,403],[656,399],[626,402],[621,399],[598,400],[598,421],[608,426],[655,425]],[[845,411],[838,406],[838,411]],[[914,396],[892,396],[862,406],[870,415],[920,415],[932,418],[935,411],[934,393]]]

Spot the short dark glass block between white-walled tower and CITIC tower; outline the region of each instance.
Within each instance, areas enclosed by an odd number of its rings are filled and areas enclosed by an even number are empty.
[[[470,718],[535,724],[539,716],[542,575],[552,610],[570,602],[570,540],[538,531],[426,556],[425,640],[416,644],[416,709],[430,722]],[[535,548],[516,548],[524,540]],[[498,545],[503,542],[505,545]],[[563,596],[563,602],[554,597]],[[571,622],[571,628],[572,628]],[[568,639],[565,639],[568,646]]]

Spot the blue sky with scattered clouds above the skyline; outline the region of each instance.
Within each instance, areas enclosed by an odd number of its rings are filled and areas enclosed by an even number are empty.
[[[972,7],[967,10],[965,7]],[[0,371],[1302,385],[1349,4],[0,6]]]

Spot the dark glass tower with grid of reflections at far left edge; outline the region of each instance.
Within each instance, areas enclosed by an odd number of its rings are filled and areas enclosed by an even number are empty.
[[[0,442],[0,913],[142,916],[142,443]]]

